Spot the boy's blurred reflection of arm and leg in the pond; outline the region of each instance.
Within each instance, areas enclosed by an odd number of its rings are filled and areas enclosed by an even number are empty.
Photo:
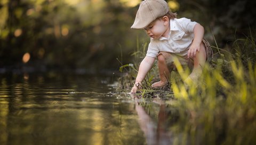
[[[141,130],[145,134],[147,144],[172,144],[172,134],[167,131],[166,104],[159,98],[155,98],[153,102],[160,105],[157,125],[147,114],[145,108],[139,105],[138,100],[135,100],[135,110],[139,116],[138,122]]]

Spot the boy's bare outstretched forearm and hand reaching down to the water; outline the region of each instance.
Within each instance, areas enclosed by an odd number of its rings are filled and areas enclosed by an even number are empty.
[[[137,92],[138,84],[141,84],[142,80],[146,77],[148,71],[153,66],[154,61],[155,61],[155,58],[147,57],[147,56],[141,61],[140,67],[139,67],[139,72],[136,77],[135,84],[132,87],[131,93]]]

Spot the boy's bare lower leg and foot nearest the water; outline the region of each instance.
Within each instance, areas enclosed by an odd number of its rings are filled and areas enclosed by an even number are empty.
[[[160,81],[152,84],[151,87],[164,86],[165,84],[168,83],[168,79],[169,79],[169,75],[170,75],[170,71],[167,67],[167,64],[166,64],[163,54],[159,54],[157,59],[158,59],[158,69],[159,69]]]

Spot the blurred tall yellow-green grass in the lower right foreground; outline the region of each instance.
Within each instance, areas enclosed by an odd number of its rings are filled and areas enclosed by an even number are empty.
[[[246,70],[241,61],[233,60],[230,69],[231,82],[223,77],[220,68],[207,65],[200,85],[192,83],[186,90],[182,83],[173,84],[174,98],[178,101],[167,103],[179,108],[183,120],[173,126],[175,132],[182,132],[185,138],[190,136],[195,144],[251,144],[256,141],[255,66],[249,62]]]

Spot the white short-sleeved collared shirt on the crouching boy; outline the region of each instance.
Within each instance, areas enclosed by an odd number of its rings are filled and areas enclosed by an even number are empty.
[[[169,38],[150,38],[147,56],[156,58],[160,51],[176,53],[180,56],[187,55],[188,46],[194,39],[196,24],[197,22],[191,22],[187,18],[171,19]]]

